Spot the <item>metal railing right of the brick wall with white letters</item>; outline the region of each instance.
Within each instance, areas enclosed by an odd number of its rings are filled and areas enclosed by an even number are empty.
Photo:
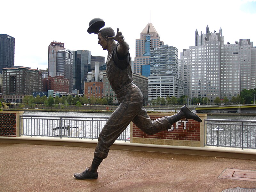
[[[256,121],[205,119],[205,145],[256,149]]]

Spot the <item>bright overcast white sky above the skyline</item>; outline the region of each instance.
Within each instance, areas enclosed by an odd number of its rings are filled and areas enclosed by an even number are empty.
[[[105,56],[97,35],[88,34],[90,20],[99,17],[105,27],[123,33],[135,57],[135,39],[151,21],[160,40],[176,46],[179,52],[195,45],[195,31],[205,33],[222,28],[225,44],[251,39],[256,46],[256,1],[248,0],[44,0],[2,1],[0,34],[15,38],[14,65],[47,68],[48,45],[54,40],[65,48],[89,50],[92,55]]]

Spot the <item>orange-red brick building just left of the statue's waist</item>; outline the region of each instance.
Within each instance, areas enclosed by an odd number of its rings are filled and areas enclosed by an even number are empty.
[[[103,98],[103,82],[84,82],[84,96]]]

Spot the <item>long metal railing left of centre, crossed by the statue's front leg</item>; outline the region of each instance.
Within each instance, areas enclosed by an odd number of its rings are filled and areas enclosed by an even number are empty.
[[[98,139],[109,117],[20,116],[20,135]],[[117,138],[130,141],[130,125]]]

